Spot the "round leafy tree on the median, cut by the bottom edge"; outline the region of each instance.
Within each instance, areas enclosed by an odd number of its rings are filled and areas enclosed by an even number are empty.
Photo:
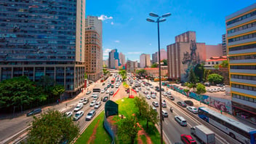
[[[135,143],[137,132],[140,127],[137,125],[137,119],[135,116],[127,116],[126,119],[121,119],[118,127],[118,135],[121,136],[121,140],[124,143]]]

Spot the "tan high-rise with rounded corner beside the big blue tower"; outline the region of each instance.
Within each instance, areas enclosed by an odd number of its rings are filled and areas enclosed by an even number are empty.
[[[95,30],[94,26],[90,26],[86,28],[85,36],[85,73],[87,73],[87,79],[97,81],[100,79],[100,72],[103,68],[100,35]]]

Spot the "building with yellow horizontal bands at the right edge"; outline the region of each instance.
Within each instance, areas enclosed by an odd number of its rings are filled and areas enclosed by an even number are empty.
[[[256,4],[225,17],[233,115],[256,119]]]

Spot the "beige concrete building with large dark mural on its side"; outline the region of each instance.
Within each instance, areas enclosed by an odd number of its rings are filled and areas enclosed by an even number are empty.
[[[175,36],[175,44],[167,46],[168,77],[187,81],[191,68],[206,60],[205,43],[196,42],[196,32],[187,31]]]

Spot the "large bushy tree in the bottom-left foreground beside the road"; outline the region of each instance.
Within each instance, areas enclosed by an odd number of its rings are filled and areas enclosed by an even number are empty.
[[[40,117],[33,116],[32,127],[28,132],[28,143],[71,142],[79,135],[79,126],[60,111],[47,111]]]

